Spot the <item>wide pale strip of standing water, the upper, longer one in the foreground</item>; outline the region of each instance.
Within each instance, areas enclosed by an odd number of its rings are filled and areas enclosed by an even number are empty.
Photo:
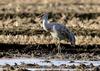
[[[59,60],[59,59],[49,59],[49,62],[46,62],[47,59],[45,58],[1,58],[0,59],[0,65],[5,65],[5,64],[10,64],[14,65],[15,63],[21,64],[38,64],[40,66],[51,66],[52,64],[59,66],[61,64],[66,64],[66,65],[79,65],[79,64],[85,64],[85,65],[90,65],[91,63],[94,66],[100,65],[100,61],[83,61],[83,60],[73,60],[71,62],[70,60]]]

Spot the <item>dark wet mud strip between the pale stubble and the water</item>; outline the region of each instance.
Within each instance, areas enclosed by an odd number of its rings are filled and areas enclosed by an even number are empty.
[[[60,44],[63,58],[74,60],[99,60],[100,45]],[[58,49],[55,44],[0,44],[0,58],[8,57],[51,57],[55,58]]]

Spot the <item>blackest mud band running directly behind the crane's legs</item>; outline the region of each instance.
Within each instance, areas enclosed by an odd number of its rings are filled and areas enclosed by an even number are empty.
[[[60,44],[62,48],[62,53],[100,53],[100,45],[75,45],[71,46],[69,44]],[[9,52],[9,50],[20,52],[33,52],[34,50],[45,50],[49,53],[49,51],[57,50],[57,45],[55,44],[29,44],[29,45],[21,45],[21,44],[2,44],[0,43],[0,51]],[[57,51],[56,51],[57,52]]]

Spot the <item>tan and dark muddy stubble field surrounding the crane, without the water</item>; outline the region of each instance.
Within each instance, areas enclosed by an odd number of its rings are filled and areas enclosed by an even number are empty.
[[[75,47],[67,41],[60,41],[62,54],[57,54],[58,40],[42,28],[41,15],[47,12],[50,22],[59,22],[68,27],[76,38]],[[100,60],[100,1],[98,0],[3,0],[0,1],[0,59],[40,58],[69,60]],[[73,61],[75,60],[75,61]],[[47,61],[49,62],[49,61]],[[52,62],[52,60],[51,60]],[[69,63],[70,63],[69,62]],[[1,64],[0,64],[1,65]],[[9,71],[28,71],[24,68],[43,68],[38,64],[15,66],[1,65]],[[100,64],[62,64],[51,68],[97,71]],[[18,69],[22,70],[18,70]],[[30,68],[29,67],[29,68]],[[18,68],[18,69],[17,69]],[[50,68],[50,67],[44,67]],[[60,68],[61,69],[61,68]],[[79,69],[79,70],[77,70]],[[81,70],[80,70],[81,69]],[[35,70],[33,70],[35,71]],[[54,70],[53,70],[54,71]],[[90,70],[91,71],[91,70]],[[99,71],[99,70],[98,70]]]

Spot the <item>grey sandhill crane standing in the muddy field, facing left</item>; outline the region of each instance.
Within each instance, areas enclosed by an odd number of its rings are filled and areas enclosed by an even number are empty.
[[[63,24],[56,22],[48,22],[48,13],[45,13],[42,16],[42,27],[45,31],[50,32],[53,39],[66,40],[71,43],[71,45],[75,45],[75,36],[74,34]],[[59,43],[60,44],[60,43]],[[61,53],[61,47],[58,46],[58,53]]]

